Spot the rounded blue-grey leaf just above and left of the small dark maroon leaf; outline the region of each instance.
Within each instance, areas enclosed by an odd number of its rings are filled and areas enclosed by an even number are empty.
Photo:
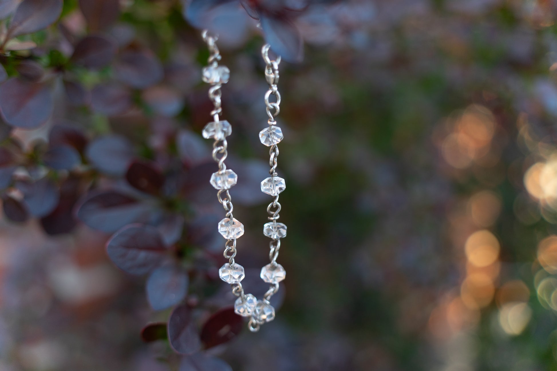
[[[87,158],[101,172],[124,175],[134,156],[128,139],[119,135],[102,136],[92,141],[86,150]]]

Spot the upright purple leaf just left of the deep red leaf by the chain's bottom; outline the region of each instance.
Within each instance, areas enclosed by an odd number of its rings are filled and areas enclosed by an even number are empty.
[[[186,305],[177,306],[172,311],[168,320],[168,340],[172,349],[181,354],[192,354],[201,348],[196,325]]]

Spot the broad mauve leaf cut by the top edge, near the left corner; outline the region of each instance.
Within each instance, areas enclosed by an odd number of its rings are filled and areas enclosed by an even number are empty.
[[[10,38],[50,26],[62,13],[62,0],[23,0],[9,23]]]

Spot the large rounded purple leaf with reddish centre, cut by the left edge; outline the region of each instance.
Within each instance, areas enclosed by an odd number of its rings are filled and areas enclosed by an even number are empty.
[[[8,124],[23,129],[40,126],[52,114],[52,94],[46,84],[9,79],[0,85],[0,109]]]

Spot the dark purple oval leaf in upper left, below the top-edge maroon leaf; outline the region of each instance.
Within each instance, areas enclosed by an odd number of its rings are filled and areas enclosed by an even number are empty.
[[[108,38],[99,35],[86,36],[77,43],[70,60],[89,69],[100,69],[112,61],[115,52],[116,45]]]

